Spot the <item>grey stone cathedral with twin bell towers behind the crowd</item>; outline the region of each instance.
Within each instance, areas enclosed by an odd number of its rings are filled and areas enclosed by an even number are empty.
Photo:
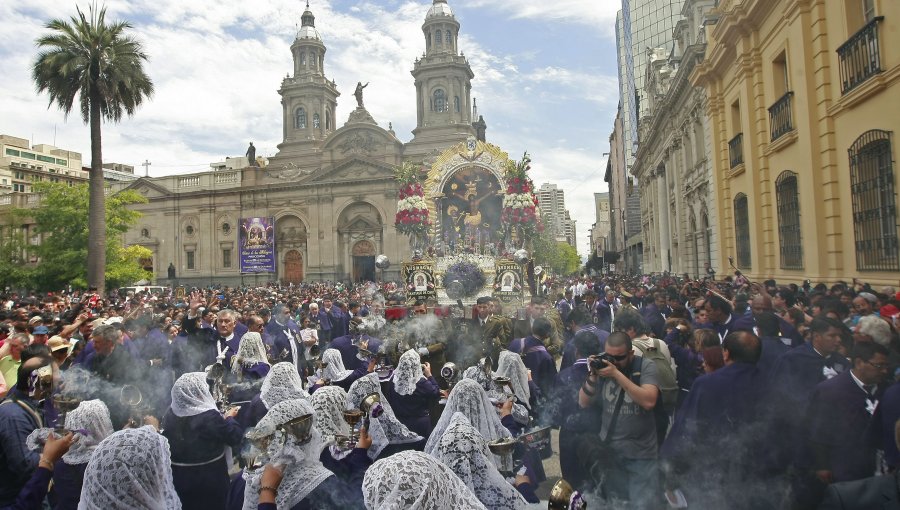
[[[484,140],[484,121],[473,119],[474,74],[458,51],[459,22],[446,0],[433,0],[422,31],[425,55],[414,63],[416,128],[400,141],[364,104],[356,86],[347,121],[337,123],[340,93],[325,77],[326,46],[307,10],[290,51],[293,70],[278,90],[282,142],[264,168],[224,169],[142,178],[113,186],[148,202],[125,243],[150,249],[144,265],[157,282],[187,286],[255,285],[278,280],[361,281],[397,278],[410,256],[394,228],[403,161],[428,163],[453,145]],[[354,97],[355,96],[355,97]],[[274,273],[241,273],[244,218],[274,218]],[[393,262],[376,273],[375,257]]]

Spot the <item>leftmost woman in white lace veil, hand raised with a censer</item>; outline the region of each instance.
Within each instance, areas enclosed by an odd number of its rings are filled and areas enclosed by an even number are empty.
[[[81,498],[84,470],[91,454],[113,433],[109,409],[102,400],[85,400],[66,415],[66,430],[75,432],[76,442],[53,468],[53,491],[57,503],[54,510],[74,510]],[[37,429],[28,436],[29,450],[40,448],[52,429]]]

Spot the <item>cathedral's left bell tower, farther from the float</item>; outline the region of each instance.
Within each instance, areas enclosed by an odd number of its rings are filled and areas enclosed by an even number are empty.
[[[325,44],[316,30],[316,17],[309,2],[301,18],[300,30],[291,45],[294,72],[281,82],[284,111],[283,142],[279,155],[304,152],[321,145],[335,128],[337,98],[334,81],[325,77]]]

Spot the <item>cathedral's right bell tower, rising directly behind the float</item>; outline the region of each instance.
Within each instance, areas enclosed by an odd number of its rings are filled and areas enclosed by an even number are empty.
[[[475,136],[472,127],[472,68],[458,48],[459,22],[446,0],[434,0],[422,24],[425,54],[412,70],[416,128],[405,154],[424,158]]]

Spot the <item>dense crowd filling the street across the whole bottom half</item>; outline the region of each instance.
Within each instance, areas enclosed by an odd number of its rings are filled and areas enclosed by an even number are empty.
[[[542,290],[0,296],[0,508],[900,508],[895,289]]]

